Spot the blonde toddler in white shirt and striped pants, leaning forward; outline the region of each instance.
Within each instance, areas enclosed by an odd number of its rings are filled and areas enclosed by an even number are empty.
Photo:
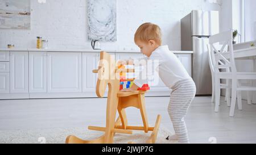
[[[164,84],[171,91],[168,114],[170,115],[175,135],[168,139],[178,140],[179,143],[189,143],[187,127],[184,117],[189,105],[195,98],[196,86],[193,79],[187,73],[179,59],[168,49],[168,45],[162,45],[162,34],[160,27],[152,23],[142,24],[134,35],[135,44],[146,55],[147,60],[157,60],[156,71]],[[146,79],[135,79],[129,89],[122,91],[135,91],[147,81]]]

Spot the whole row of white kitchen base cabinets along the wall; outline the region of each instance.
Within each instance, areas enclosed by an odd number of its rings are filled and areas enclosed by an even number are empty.
[[[108,52],[115,60],[142,58],[139,52]],[[191,54],[176,53],[191,74]],[[0,99],[97,97],[97,69],[100,51],[0,51]],[[129,66],[131,67],[131,66]],[[139,76],[141,68],[127,73]],[[156,75],[158,76],[158,75]],[[159,78],[159,77],[155,77]],[[106,89],[105,97],[108,93]],[[170,90],[160,80],[146,96],[167,96]]]

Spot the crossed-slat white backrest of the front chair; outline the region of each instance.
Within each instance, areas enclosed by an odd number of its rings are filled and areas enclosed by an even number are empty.
[[[232,74],[237,73],[234,62],[232,34],[232,31],[226,31],[209,37],[209,57],[212,60],[214,72],[232,72]],[[228,58],[224,56],[225,53],[229,55]]]

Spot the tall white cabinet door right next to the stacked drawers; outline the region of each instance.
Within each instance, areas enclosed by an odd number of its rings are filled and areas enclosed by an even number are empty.
[[[28,52],[10,52],[10,93],[28,93]]]

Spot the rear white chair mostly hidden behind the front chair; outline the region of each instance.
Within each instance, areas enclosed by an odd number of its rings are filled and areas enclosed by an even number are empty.
[[[210,72],[212,73],[212,103],[214,103],[214,99],[215,99],[215,93],[214,93],[214,89],[215,89],[215,87],[214,87],[214,74],[215,74],[215,72],[214,72],[214,62],[212,61],[212,57],[211,57],[211,55],[210,55],[210,45],[209,44],[207,44],[207,49],[208,49],[208,58],[209,58],[209,66],[210,66]],[[228,69],[228,68],[226,68],[226,69]],[[227,70],[227,72],[228,72],[229,70]],[[228,79],[226,79],[226,84],[224,84],[224,83],[220,83],[220,89],[226,89],[226,94],[225,94],[225,101],[226,101],[226,103],[227,103],[227,105],[228,105],[228,107],[230,107],[230,91],[229,91],[229,89],[230,89],[230,85],[229,85],[229,80]]]

